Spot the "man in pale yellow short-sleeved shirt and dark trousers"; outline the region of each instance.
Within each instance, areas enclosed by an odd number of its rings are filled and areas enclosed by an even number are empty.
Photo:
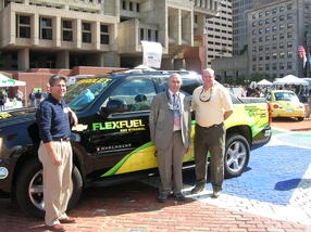
[[[195,164],[196,185],[191,194],[204,190],[207,183],[207,154],[210,152],[212,197],[219,197],[224,179],[225,126],[233,113],[228,91],[215,81],[214,70],[202,73],[203,86],[195,89],[191,108],[196,112]]]

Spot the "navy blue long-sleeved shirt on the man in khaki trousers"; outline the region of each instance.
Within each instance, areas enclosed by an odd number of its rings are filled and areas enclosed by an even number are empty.
[[[63,100],[58,101],[49,94],[39,105],[36,119],[43,143],[52,141],[53,138],[70,138],[69,108]]]

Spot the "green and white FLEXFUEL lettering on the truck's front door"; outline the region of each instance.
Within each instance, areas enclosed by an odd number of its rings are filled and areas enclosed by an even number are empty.
[[[146,130],[145,125],[142,124],[141,119],[92,123],[91,128],[92,128],[92,130],[115,130],[115,129],[120,129],[120,132]]]

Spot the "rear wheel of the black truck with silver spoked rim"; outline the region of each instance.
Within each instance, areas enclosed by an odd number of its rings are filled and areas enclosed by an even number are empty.
[[[224,157],[225,178],[240,176],[249,160],[250,147],[247,139],[240,134],[228,134]]]

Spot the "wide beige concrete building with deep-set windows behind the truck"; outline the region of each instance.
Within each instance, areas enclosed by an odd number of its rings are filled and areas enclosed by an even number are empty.
[[[206,18],[219,5],[217,0],[0,0],[0,69],[133,67],[142,61],[141,40],[162,44],[162,67],[185,67],[185,49],[196,53]]]

